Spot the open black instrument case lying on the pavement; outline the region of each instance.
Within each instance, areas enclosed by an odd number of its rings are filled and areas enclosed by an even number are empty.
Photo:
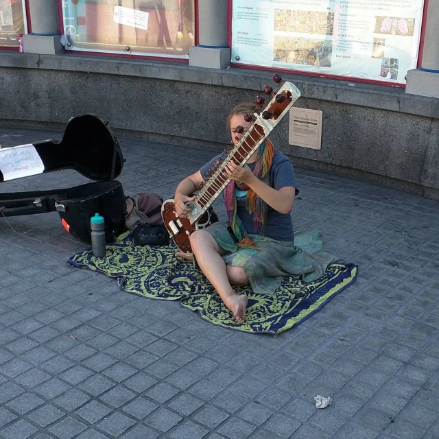
[[[0,217],[56,211],[73,238],[90,243],[90,219],[99,213],[105,220],[106,241],[114,242],[125,229],[125,195],[121,182],[115,180],[124,159],[107,122],[95,115],[78,115],[67,123],[62,141],[49,139],[32,145],[43,162],[43,174],[75,169],[95,181],[69,189],[0,193]],[[29,145],[15,148],[21,147]],[[0,152],[5,150],[9,148]],[[4,180],[0,163],[0,182]]]

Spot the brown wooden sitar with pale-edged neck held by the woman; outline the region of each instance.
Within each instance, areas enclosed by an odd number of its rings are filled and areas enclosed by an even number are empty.
[[[188,217],[179,217],[177,215],[174,200],[163,202],[163,223],[178,249],[187,256],[192,255],[191,234],[195,230],[209,226],[209,208],[211,208],[213,202],[230,182],[230,178],[228,178],[225,172],[227,165],[233,161],[243,167],[258,149],[259,145],[268,137],[268,134],[272,132],[283,116],[287,114],[289,108],[300,97],[298,88],[291,82],[283,82],[281,76],[277,73],[273,75],[273,80],[281,84],[281,88],[277,93],[273,93],[271,86],[265,86],[264,92],[272,97],[265,110],[261,115],[257,113],[254,113],[254,115],[244,115],[247,122],[252,121],[252,125],[236,145],[226,150],[226,157],[220,159],[211,169],[206,184],[195,195],[195,200],[187,204],[189,208]],[[265,99],[262,96],[258,96],[256,102],[263,105]],[[237,127],[237,132],[244,131],[244,128],[242,130],[238,128],[242,127]]]

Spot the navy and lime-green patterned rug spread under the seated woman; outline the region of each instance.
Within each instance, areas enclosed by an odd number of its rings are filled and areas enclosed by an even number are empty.
[[[105,258],[95,258],[91,249],[67,260],[78,268],[88,268],[117,278],[126,292],[153,299],[180,300],[204,320],[222,327],[250,333],[276,335],[293,328],[316,313],[331,298],[355,282],[357,266],[333,264],[318,281],[302,282],[285,278],[275,294],[256,295],[248,287],[246,322],[238,324],[202,273],[193,263],[174,257],[176,247],[134,246],[131,235],[123,235],[107,246]]]

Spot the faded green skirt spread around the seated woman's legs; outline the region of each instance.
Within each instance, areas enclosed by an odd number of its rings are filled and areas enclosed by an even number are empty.
[[[316,281],[323,276],[328,265],[338,260],[322,251],[321,241],[316,246],[316,239],[320,239],[320,234],[307,234],[306,239],[302,235],[303,243],[313,241],[312,252],[296,246],[295,241],[276,241],[262,235],[249,235],[257,248],[241,248],[235,244],[227,230],[228,226],[228,222],[216,222],[204,230],[226,250],[222,259],[227,265],[244,268],[256,294],[274,294],[285,276],[302,278],[305,282]]]

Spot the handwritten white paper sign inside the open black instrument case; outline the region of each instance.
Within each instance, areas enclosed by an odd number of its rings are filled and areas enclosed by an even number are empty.
[[[20,145],[0,150],[0,170],[3,180],[14,180],[43,174],[44,164],[34,145]]]

